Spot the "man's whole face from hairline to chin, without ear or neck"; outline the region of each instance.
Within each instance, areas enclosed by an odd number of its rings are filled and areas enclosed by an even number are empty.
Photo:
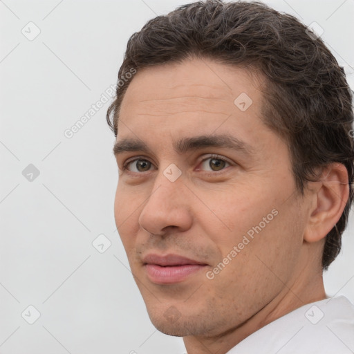
[[[296,282],[306,207],[261,99],[248,71],[206,59],[147,68],[127,89],[115,222],[164,333],[218,335]]]

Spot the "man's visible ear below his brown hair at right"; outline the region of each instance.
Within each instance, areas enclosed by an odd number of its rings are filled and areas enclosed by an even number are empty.
[[[312,205],[304,239],[316,242],[324,239],[342,216],[349,197],[348,171],[344,165],[335,162],[324,168],[319,180],[308,184],[311,185],[309,198]]]

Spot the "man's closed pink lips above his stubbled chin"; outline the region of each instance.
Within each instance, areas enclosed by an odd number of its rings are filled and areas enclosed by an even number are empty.
[[[147,277],[156,284],[180,283],[207,266],[206,263],[177,254],[148,254],[142,261]]]

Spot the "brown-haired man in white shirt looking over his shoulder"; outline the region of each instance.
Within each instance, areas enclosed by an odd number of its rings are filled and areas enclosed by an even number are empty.
[[[354,306],[322,279],[353,201],[353,111],[320,38],[261,3],[181,6],[129,39],[107,121],[158,330],[189,354],[354,351]]]

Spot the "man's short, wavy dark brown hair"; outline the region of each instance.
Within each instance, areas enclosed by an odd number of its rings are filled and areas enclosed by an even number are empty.
[[[151,19],[130,37],[118,81],[132,68],[190,57],[260,70],[267,87],[263,120],[288,143],[297,190],[304,194],[307,181],[317,178],[315,170],[331,162],[348,170],[349,198],[324,245],[326,270],[341,249],[353,201],[353,108],[344,71],[322,39],[310,34],[295,17],[264,3],[197,1]],[[115,136],[131,80],[124,81],[106,114]]]

